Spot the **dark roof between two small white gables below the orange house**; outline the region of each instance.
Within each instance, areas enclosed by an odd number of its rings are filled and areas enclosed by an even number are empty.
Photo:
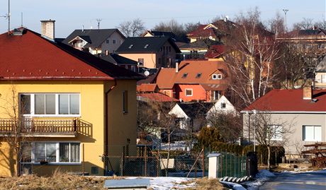
[[[184,113],[194,119],[196,117],[205,117],[207,112],[211,107],[213,107],[213,102],[186,102],[178,103]]]

